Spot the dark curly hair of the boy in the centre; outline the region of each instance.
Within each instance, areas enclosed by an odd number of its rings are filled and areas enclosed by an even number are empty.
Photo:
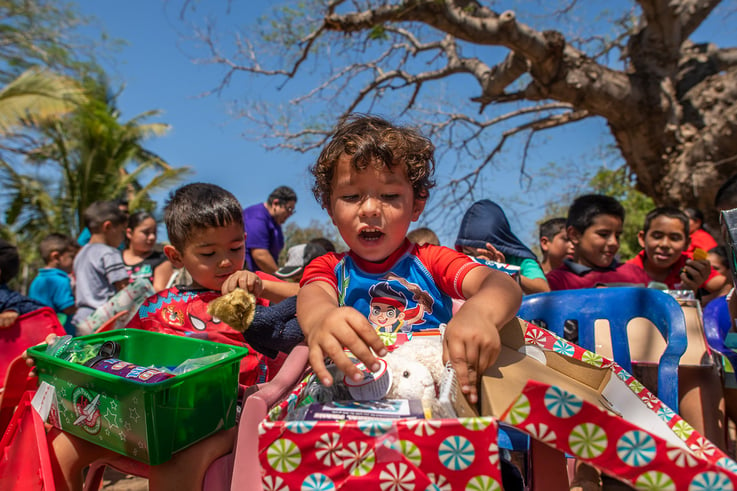
[[[349,114],[341,118],[328,144],[320,152],[310,172],[315,176],[312,192],[320,205],[330,206],[333,176],[341,155],[351,157],[356,170],[369,165],[386,167],[392,172],[404,166],[416,199],[426,200],[435,186],[435,146],[414,128],[395,126],[367,114]]]

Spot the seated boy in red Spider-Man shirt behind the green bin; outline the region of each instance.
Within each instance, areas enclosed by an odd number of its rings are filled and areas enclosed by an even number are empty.
[[[259,345],[262,351],[289,351],[304,339],[294,319],[294,295],[299,286],[241,269],[245,255],[243,216],[231,193],[213,184],[182,186],[170,195],[164,222],[170,241],[164,246],[164,253],[175,267],[187,270],[192,284],[174,286],[149,297],[127,328],[196,336],[238,346],[248,342],[251,346]],[[236,288],[260,297],[261,305],[266,299],[279,302],[266,309],[256,307],[253,322],[245,333],[207,312],[210,301]],[[263,357],[250,351],[241,363],[241,383],[254,385],[265,377]],[[151,466],[150,488],[200,489],[210,463],[232,450],[235,430],[219,431],[177,452],[171,460]],[[111,451],[72,435],[55,429],[52,432],[57,487],[64,483],[68,489],[81,489],[86,466],[112,455]]]

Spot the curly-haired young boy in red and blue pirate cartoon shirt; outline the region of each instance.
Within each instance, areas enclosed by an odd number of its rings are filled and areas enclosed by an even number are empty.
[[[522,294],[509,275],[465,254],[407,240],[434,185],[433,153],[432,143],[414,129],[351,115],[311,168],[315,197],[350,248],[312,261],[297,296],[310,363],[325,385],[333,382],[326,356],[346,377],[363,378],[345,348],[371,370],[379,368],[376,355],[387,349],[368,320],[370,289],[386,282],[408,300],[406,309],[416,309],[422,293],[424,312],[406,326],[411,331],[447,324],[444,359],[469,401],[478,399],[480,376],[499,353],[498,330],[514,317]],[[455,315],[453,299],[466,300]]]

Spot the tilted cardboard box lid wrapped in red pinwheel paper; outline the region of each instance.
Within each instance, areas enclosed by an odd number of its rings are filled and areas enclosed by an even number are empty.
[[[616,363],[520,319],[501,339],[481,414],[635,489],[737,487],[737,463]]]

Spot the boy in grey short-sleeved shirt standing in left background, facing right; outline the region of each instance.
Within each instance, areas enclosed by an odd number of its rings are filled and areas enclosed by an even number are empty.
[[[125,239],[128,214],[115,201],[96,201],[84,211],[84,221],[91,235],[87,245],[74,258],[77,312],[72,317],[72,324],[75,326],[129,283],[123,258],[117,249]]]

